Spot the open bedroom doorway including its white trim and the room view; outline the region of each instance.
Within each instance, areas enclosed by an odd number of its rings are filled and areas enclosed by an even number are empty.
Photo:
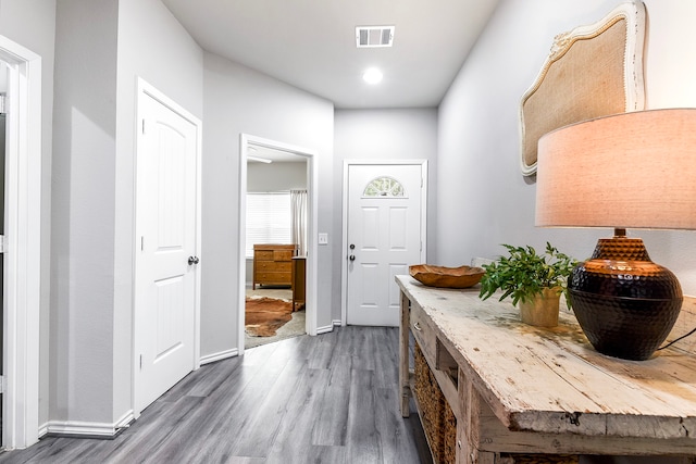
[[[241,136],[240,353],[316,334],[314,171],[311,150]]]

